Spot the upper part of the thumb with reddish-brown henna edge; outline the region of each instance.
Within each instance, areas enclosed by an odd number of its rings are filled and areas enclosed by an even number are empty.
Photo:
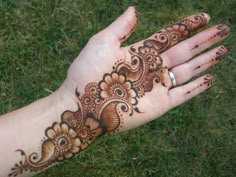
[[[115,35],[115,39],[120,43],[129,38],[137,26],[137,12],[133,6],[130,6],[120,17],[110,24],[105,31]]]

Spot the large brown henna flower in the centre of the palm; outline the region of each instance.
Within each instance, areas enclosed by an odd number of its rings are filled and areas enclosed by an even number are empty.
[[[125,76],[113,72],[106,74],[103,81],[99,83],[101,88],[100,96],[106,98],[118,98],[137,104],[136,92],[132,88],[131,82],[127,81]]]

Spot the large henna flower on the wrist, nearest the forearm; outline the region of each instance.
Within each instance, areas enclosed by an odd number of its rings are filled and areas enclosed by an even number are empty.
[[[58,152],[58,161],[70,158],[80,150],[80,139],[76,132],[65,123],[55,123],[47,129],[46,136],[52,140],[56,152]]]

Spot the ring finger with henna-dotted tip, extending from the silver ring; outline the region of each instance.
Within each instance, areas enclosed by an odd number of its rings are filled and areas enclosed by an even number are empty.
[[[226,55],[227,49],[224,46],[219,46],[184,64],[172,68],[171,72],[176,78],[176,85],[187,82],[192,77],[221,61]]]

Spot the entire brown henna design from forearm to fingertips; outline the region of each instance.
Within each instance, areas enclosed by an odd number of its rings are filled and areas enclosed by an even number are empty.
[[[21,152],[23,161],[15,164],[9,176],[17,176],[27,170],[36,172],[71,158],[97,137],[119,132],[124,113],[131,118],[134,114],[145,112],[139,109],[139,100],[145,97],[145,93],[151,92],[155,84],[167,90],[170,88],[166,79],[168,68],[160,54],[206,24],[204,14],[196,14],[155,33],[139,46],[132,45],[129,50],[131,61],[118,60],[100,81],[88,83],[82,95],[76,89],[78,110],[63,112],[60,122],[46,128],[41,152],[26,154],[24,150],[17,150]],[[221,25],[215,35],[222,37],[226,33]],[[217,53],[218,58],[225,55],[223,50]],[[213,80],[208,75],[201,84],[210,86]]]

